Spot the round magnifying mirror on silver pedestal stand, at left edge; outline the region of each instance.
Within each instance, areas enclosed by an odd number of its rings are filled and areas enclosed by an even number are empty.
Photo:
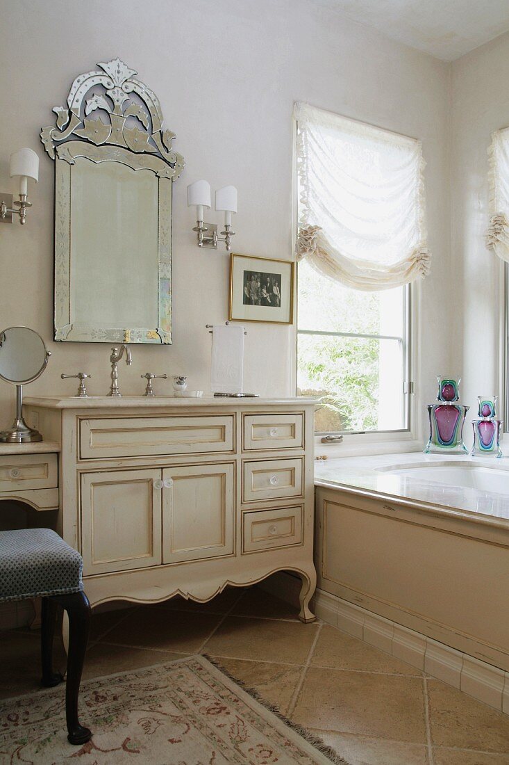
[[[28,327],[8,327],[0,332],[0,379],[16,386],[16,417],[12,428],[0,433],[3,444],[42,441],[41,433],[29,428],[21,412],[23,386],[34,382],[46,369],[50,352],[40,334]]]

